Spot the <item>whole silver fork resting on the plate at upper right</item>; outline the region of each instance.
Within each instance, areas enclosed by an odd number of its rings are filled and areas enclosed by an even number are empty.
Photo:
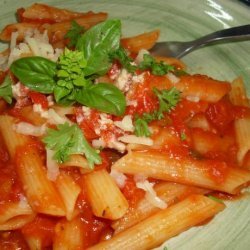
[[[153,55],[181,58],[191,51],[219,42],[250,40],[250,25],[219,30],[190,42],[158,42],[150,50]]]

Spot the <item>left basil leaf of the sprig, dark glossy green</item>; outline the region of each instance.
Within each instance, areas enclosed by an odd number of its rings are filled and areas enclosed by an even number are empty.
[[[14,61],[10,70],[29,89],[53,93],[56,63],[40,56],[25,57]]]

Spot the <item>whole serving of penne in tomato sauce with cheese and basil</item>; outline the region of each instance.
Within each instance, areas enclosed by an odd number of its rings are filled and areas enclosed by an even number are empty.
[[[244,198],[241,77],[189,74],[150,54],[159,30],[124,38],[104,12],[17,20],[0,33],[0,249],[153,249]]]

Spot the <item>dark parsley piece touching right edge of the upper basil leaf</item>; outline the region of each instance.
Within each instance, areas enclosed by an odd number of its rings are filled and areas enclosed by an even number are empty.
[[[110,53],[111,60],[117,60],[130,73],[135,72],[137,67],[132,64],[133,60],[130,58],[126,50],[122,47]]]

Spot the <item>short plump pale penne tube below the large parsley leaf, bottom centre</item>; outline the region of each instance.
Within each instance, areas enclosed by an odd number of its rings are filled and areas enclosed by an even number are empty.
[[[115,220],[125,214],[128,202],[106,170],[86,174],[84,181],[88,199],[96,216]]]

